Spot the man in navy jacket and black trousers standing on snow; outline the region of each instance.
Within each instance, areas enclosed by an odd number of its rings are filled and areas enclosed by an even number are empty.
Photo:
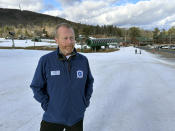
[[[73,28],[56,27],[57,51],[39,60],[30,87],[45,111],[40,131],[83,131],[83,118],[93,92],[88,60],[76,52]]]

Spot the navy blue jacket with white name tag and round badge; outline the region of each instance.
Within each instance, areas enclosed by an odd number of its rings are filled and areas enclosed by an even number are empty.
[[[45,111],[43,120],[72,126],[84,118],[93,82],[85,56],[75,51],[67,60],[57,49],[40,58],[30,87]]]

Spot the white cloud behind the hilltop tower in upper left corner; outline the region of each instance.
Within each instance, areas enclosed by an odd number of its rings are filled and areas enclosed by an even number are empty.
[[[43,9],[43,0],[0,0],[0,8],[19,9],[19,4],[23,10],[40,11]]]

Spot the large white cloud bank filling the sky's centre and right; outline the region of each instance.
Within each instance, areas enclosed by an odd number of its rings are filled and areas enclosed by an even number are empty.
[[[70,3],[73,0],[66,0]],[[166,26],[175,21],[175,0],[139,1],[115,5],[114,0],[75,0],[65,6],[57,16],[86,24],[113,24],[117,26]]]

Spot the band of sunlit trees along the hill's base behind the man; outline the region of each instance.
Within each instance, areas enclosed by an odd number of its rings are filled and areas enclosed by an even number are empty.
[[[121,38],[124,41],[130,41],[136,43],[138,37],[147,38],[152,40],[156,44],[172,44],[175,43],[175,26],[168,30],[155,28],[154,30],[144,30],[139,27],[130,28],[119,28],[113,25],[93,26],[85,24],[70,23],[74,27],[76,38],[79,35],[85,37],[96,37],[96,38]],[[25,36],[32,38],[40,36],[43,38],[54,38],[54,24],[41,24],[41,25],[5,25],[0,27],[0,37],[9,36],[9,32],[15,32],[15,37]]]

